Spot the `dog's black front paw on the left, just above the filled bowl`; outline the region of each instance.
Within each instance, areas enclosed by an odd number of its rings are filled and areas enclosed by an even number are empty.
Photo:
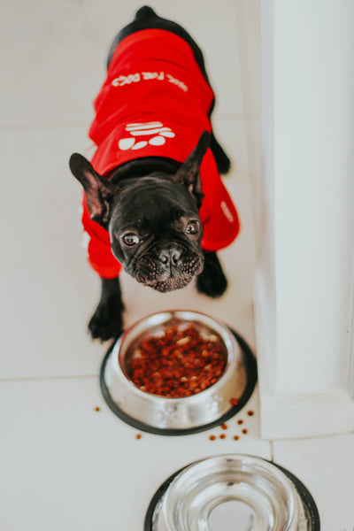
[[[89,334],[92,339],[102,342],[116,339],[123,330],[122,310],[116,301],[98,304],[89,321]]]

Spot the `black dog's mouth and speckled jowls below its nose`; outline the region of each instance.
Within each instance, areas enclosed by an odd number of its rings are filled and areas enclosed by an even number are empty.
[[[166,293],[187,286],[196,274],[202,273],[203,267],[203,258],[196,254],[168,265],[145,255],[136,264],[134,276],[144,286]]]

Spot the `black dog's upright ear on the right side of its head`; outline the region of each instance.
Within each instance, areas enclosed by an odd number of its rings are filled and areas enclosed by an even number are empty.
[[[202,180],[200,178],[199,168],[202,160],[209,147],[211,135],[204,131],[200,136],[195,149],[186,158],[181,168],[173,177],[174,182],[179,182],[188,187],[189,192],[196,198],[198,208],[202,204],[204,194],[202,192]]]

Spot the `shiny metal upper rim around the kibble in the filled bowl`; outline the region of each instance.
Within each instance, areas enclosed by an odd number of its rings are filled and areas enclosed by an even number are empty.
[[[190,317],[189,319],[185,319],[185,318],[182,318],[181,315],[187,315]],[[166,317],[165,319],[162,319],[164,316],[168,316],[168,317]],[[226,364],[218,380],[215,383],[213,383],[212,385],[210,385],[208,388],[204,389],[203,391],[200,391],[199,393],[195,393],[194,395],[189,395],[189,396],[154,395],[153,393],[142,391],[142,389],[139,389],[135,385],[132,379],[128,376],[126,367],[124,366],[123,356],[127,352],[127,350],[124,350],[124,343],[129,342],[129,339],[130,339],[129,335],[131,335],[132,332],[134,332],[135,330],[139,331],[139,328],[142,327],[142,324],[144,322],[154,317],[157,318],[157,322],[151,325],[152,328],[158,327],[158,325],[161,325],[161,326],[168,325],[168,323],[171,320],[176,319],[176,320],[181,320],[181,322],[183,320],[185,320],[186,322],[201,322],[204,325],[204,327],[209,328],[209,330],[219,335],[226,350]],[[211,325],[205,324],[202,319],[210,321]],[[146,328],[142,329],[140,334],[138,333],[137,335],[133,336],[133,341],[139,340],[139,338],[147,332],[148,330]],[[151,313],[147,317],[143,317],[142,319],[139,319],[138,321],[136,321],[134,325],[132,325],[131,327],[128,327],[127,330],[125,330],[123,334],[119,337],[119,340],[115,343],[112,349],[112,355],[114,356],[114,358],[112,359],[112,364],[113,366],[116,367],[116,369],[119,368],[120,373],[125,378],[128,388],[133,393],[144,396],[144,398],[146,398],[147,400],[149,400],[148,396],[150,396],[150,399],[153,400],[154,403],[156,404],[165,402],[165,400],[167,400],[169,404],[174,404],[182,400],[183,398],[188,398],[189,402],[193,403],[194,401],[198,401],[202,394],[205,395],[206,393],[208,393],[208,391],[211,392],[211,390],[215,388],[215,386],[222,385],[222,382],[226,380],[227,370],[230,368],[230,365],[233,361],[230,357],[230,354],[231,354],[231,350],[233,348],[234,343],[235,343],[235,335],[233,335],[232,331],[228,327],[226,327],[223,323],[219,322],[216,319],[213,319],[212,317],[210,317],[209,315],[206,315],[205,313],[193,312],[191,310],[171,310],[171,311],[165,311],[165,312]],[[128,346],[129,346],[129,343],[128,343]]]

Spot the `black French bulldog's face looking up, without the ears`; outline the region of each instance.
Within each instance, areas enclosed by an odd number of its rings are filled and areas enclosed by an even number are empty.
[[[196,202],[164,174],[138,179],[116,197],[109,232],[112,252],[127,273],[153,289],[183,288],[203,270]]]

